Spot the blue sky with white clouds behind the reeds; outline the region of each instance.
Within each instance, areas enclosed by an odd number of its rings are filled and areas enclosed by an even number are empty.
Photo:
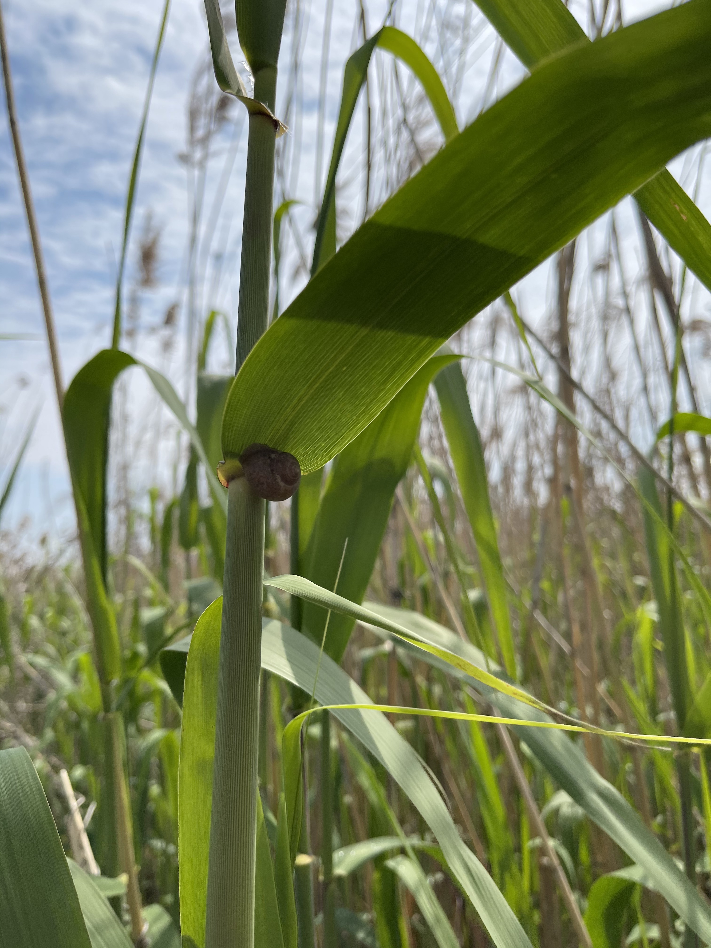
[[[301,161],[298,167],[293,163],[289,166],[286,177],[292,191],[288,196],[302,202],[295,210],[296,220],[303,232],[308,232],[314,215],[319,55],[326,0],[311,0],[305,5],[301,2],[305,11],[301,21],[301,124],[291,129],[291,138],[286,143],[294,151],[295,142],[299,142]],[[665,4],[634,0],[625,3],[623,9],[629,21],[662,6]],[[467,7],[466,0],[458,0],[450,7],[456,15],[469,16],[477,37],[457,101],[460,122],[464,122],[481,105],[496,37],[478,11],[467,13],[472,8]],[[159,0],[98,0],[94,4],[80,4],[77,0],[4,0],[15,96],[46,254],[65,385],[89,356],[110,343],[123,200],[161,8]],[[379,25],[385,9],[384,3],[369,5],[370,31]],[[402,27],[416,33],[422,27],[421,20],[418,21],[422,5],[407,0],[402,9]],[[584,23],[587,4],[581,0],[574,10]],[[322,166],[327,164],[342,65],[356,45],[356,12],[352,0],[347,5],[336,0]],[[292,24],[287,16],[283,78],[293,49]],[[202,0],[173,0],[155,82],[127,274],[130,285],[136,273],[136,238],[150,212],[160,229],[158,285],[139,295],[139,329],[133,339],[127,340],[127,346],[169,374],[179,391],[184,391],[186,385],[182,329],[187,319],[187,297],[182,274],[190,209],[189,175],[179,155],[185,150],[186,102],[191,82],[197,66],[205,62],[207,48]],[[428,52],[434,58],[435,46],[428,48]],[[239,58],[235,49],[238,62]],[[501,95],[522,75],[520,65],[507,54],[495,94]],[[285,107],[285,103],[280,107]],[[236,116],[234,112],[215,140],[206,188],[208,216],[225,157],[232,147],[230,142],[235,143],[234,166],[224,202],[214,205],[219,211],[216,233],[224,245],[224,272],[215,286],[210,286],[210,280],[205,281],[199,300],[200,312],[219,305],[230,317],[237,286],[246,145],[246,135],[233,138]],[[349,140],[341,175],[346,182],[344,201],[353,216],[359,212],[360,134],[356,129]],[[683,167],[683,161],[675,165],[678,173],[682,173]],[[707,207],[709,199],[711,193],[704,177],[700,203],[707,213],[711,212],[711,207]],[[0,122],[0,217],[0,332],[39,337],[39,341],[0,342],[0,479],[34,406],[42,405],[9,518],[3,525],[17,526],[31,514],[33,534],[47,531],[59,538],[71,530],[71,505],[44,324],[6,118]],[[628,218],[629,214],[625,219]],[[596,233],[593,228],[589,237],[591,259],[599,237]],[[292,246],[285,262],[290,274],[296,262]],[[297,276],[290,287],[283,288],[286,297],[298,289],[302,279]],[[521,290],[529,302],[529,315],[534,318],[545,310],[550,297],[549,283],[548,269],[542,267]],[[167,345],[166,333],[157,327],[162,325],[166,310],[174,301],[180,303],[180,317],[172,342]],[[219,347],[212,356],[213,370],[225,370],[228,366],[224,342]],[[137,374],[125,383],[124,390],[121,417],[126,420],[127,429],[130,427],[131,438],[124,440],[123,449],[128,450],[130,441],[132,459],[143,458],[143,469],[133,465],[131,473],[131,483],[142,490],[151,483],[155,464],[159,464],[155,438],[159,410]],[[166,426],[161,428],[162,436],[168,437],[166,432],[170,430]],[[147,444],[150,449],[141,454],[141,446]],[[171,460],[164,459],[158,478],[166,490],[174,480],[174,461],[181,457],[174,453],[174,439],[171,445]]]

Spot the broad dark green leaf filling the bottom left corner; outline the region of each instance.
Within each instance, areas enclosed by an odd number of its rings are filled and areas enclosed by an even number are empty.
[[[3,948],[91,948],[45,791],[24,747],[0,751]]]

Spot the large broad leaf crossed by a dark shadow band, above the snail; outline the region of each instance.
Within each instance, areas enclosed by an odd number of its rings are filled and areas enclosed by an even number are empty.
[[[252,349],[226,456],[325,464],[468,319],[708,136],[710,38],[692,0],[541,65],[449,142]]]

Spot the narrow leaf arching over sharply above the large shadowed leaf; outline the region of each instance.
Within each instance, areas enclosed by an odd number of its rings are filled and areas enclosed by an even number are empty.
[[[323,264],[328,263],[336,253],[336,175],[356,109],[356,101],[365,82],[368,66],[376,47],[389,50],[403,63],[410,66],[412,72],[422,83],[445,140],[450,141],[459,133],[457,117],[454,114],[454,109],[442,80],[425,53],[407,33],[403,33],[402,30],[395,27],[382,27],[369,40],[366,40],[363,46],[356,49],[356,52],[349,57],[343,70],[343,89],[340,96],[336,137],[331,154],[331,166],[328,170],[326,186],[323,190],[323,200],[321,201],[314,244],[314,260],[311,267],[312,275]]]

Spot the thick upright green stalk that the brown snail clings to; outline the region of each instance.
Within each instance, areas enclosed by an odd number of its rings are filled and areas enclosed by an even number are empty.
[[[266,9],[249,4],[247,15]],[[247,55],[245,10],[237,10]],[[281,22],[279,40],[281,42]],[[254,31],[254,24],[247,23]],[[279,42],[273,64],[255,69],[254,98],[274,109]],[[250,57],[250,64],[254,62]],[[268,320],[276,129],[267,116],[249,117],[245,220],[242,238],[236,371]],[[252,948],[262,654],[264,501],[239,478],[228,488],[220,667],[210,825],[207,948]]]

